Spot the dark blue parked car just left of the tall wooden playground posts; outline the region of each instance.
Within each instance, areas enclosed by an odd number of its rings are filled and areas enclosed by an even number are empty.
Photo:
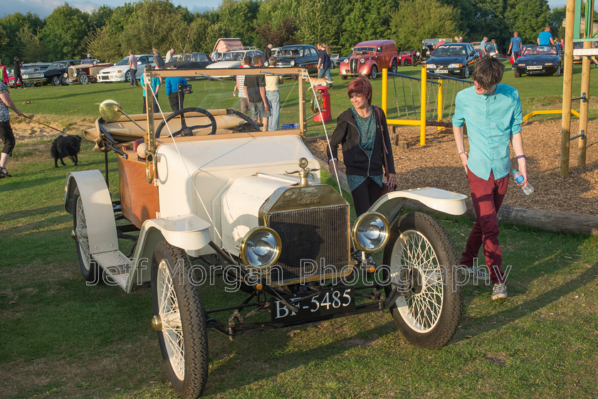
[[[513,63],[515,78],[519,78],[524,73],[560,76],[561,70],[562,58],[557,46],[552,44],[547,46],[528,44],[523,48],[521,56]]]

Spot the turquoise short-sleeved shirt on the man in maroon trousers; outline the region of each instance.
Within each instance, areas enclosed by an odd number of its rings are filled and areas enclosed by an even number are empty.
[[[519,93],[514,87],[497,85],[491,95],[479,95],[471,86],[458,92],[453,126],[467,124],[469,158],[467,167],[480,179],[495,179],[509,174],[509,142],[521,132],[523,112]]]

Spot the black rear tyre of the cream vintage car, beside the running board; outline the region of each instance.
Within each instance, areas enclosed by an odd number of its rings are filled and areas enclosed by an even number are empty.
[[[85,281],[90,284],[98,284],[103,281],[104,270],[98,262],[95,262],[89,252],[89,240],[87,235],[88,226],[85,221],[85,208],[83,200],[79,194],[79,189],[75,189],[75,212],[73,213],[73,237],[75,238],[75,248],[77,248],[77,257],[81,274]]]

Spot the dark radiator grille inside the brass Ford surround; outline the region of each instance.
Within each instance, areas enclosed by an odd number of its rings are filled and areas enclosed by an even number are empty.
[[[348,205],[271,213],[268,226],[282,241],[272,282],[319,280],[338,275],[349,264]]]

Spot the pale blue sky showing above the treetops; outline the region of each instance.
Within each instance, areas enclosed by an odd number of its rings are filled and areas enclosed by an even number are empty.
[[[135,0],[132,0],[132,2]],[[171,0],[172,4],[180,4],[187,7],[191,12],[203,12],[207,9],[216,9],[221,0]],[[73,6],[81,11],[92,11],[98,6],[107,5],[110,7],[121,6],[122,0],[78,0],[66,1],[70,6]],[[41,18],[46,18],[53,9],[65,3],[65,0],[2,0],[0,17],[16,12],[26,14],[31,11],[32,14],[37,14]],[[551,8],[562,7],[567,4],[567,0],[548,0],[548,5]]]

